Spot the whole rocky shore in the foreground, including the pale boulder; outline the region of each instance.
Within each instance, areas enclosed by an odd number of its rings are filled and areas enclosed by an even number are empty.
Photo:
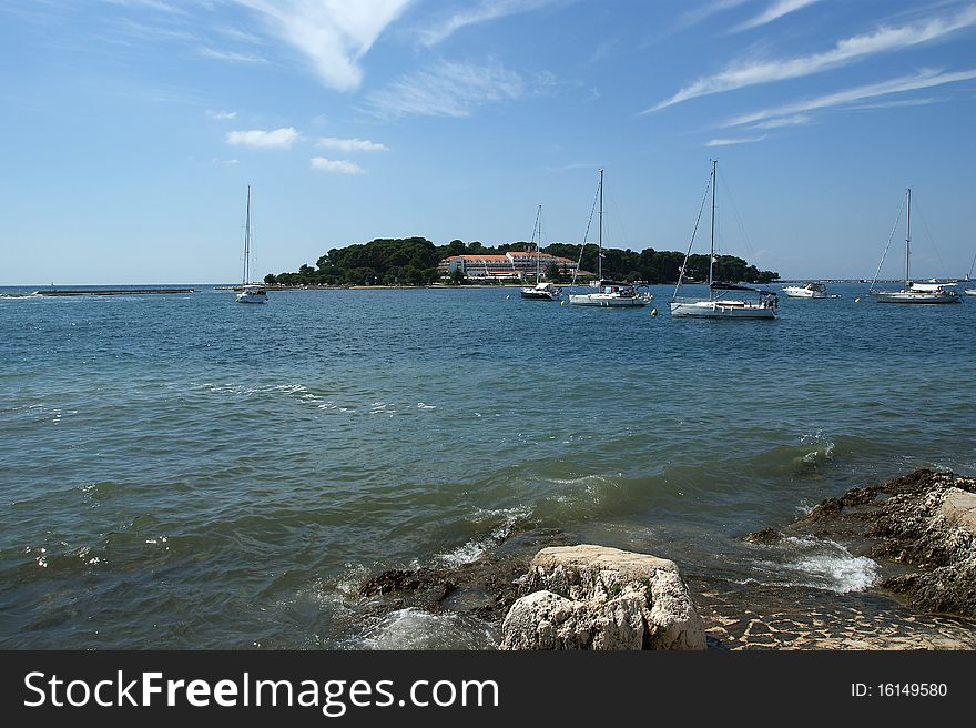
[[[457,614],[511,649],[976,649],[976,479],[916,471],[742,538],[797,537],[843,543],[883,576],[851,594],[741,584],[683,574],[667,544],[629,554],[528,528],[470,564],[379,574],[358,608]]]

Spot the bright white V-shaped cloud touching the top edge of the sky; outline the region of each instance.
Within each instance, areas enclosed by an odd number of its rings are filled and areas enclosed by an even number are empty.
[[[236,0],[303,53],[325,85],[359,88],[358,61],[413,0]]]

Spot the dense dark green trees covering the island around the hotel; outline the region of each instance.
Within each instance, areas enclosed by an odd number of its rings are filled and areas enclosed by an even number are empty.
[[[264,281],[278,285],[428,285],[438,280],[437,264],[451,255],[500,255],[510,250],[529,250],[526,242],[507,243],[495,247],[478,241],[465,243],[453,240],[447,245],[435,245],[426,237],[386,239],[336,247],[315,262],[315,267],[303,264],[295,273],[268,274]],[[651,247],[631,250],[603,249],[602,266],[598,263],[598,249],[593,243],[583,247],[569,243],[552,243],[543,252],[559,257],[580,261],[580,269],[596,273],[602,267],[603,277],[647,283],[674,283],[678,281],[684,254],[673,251],[655,251]],[[685,280],[708,281],[709,256],[691,255],[688,259]],[[569,270],[558,265],[546,271],[548,280],[568,283]],[[729,282],[769,283],[780,277],[774,271],[760,271],[734,255],[719,255],[715,260],[715,279]],[[460,283],[455,276],[454,283]]]

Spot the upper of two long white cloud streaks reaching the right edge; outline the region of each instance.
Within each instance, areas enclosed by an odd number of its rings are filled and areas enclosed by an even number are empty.
[[[811,75],[846,65],[875,53],[898,51],[932,42],[974,24],[976,24],[976,6],[969,6],[953,17],[931,18],[897,28],[882,27],[864,36],[853,36],[837,41],[834,48],[824,53],[731,65],[721,73],[697,80],[670,99],[665,99],[641,113],[660,111],[675,103],[712,93]]]

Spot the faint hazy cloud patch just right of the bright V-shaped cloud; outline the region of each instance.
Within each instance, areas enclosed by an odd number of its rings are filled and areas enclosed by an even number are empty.
[[[401,75],[369,94],[367,107],[378,117],[468,117],[481,104],[517,99],[522,93],[522,78],[499,63],[443,61]]]

